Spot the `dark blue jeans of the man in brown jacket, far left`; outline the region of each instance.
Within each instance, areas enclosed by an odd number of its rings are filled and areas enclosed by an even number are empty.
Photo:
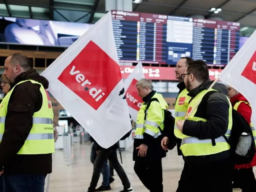
[[[3,176],[3,192],[44,192],[46,174],[17,174]]]

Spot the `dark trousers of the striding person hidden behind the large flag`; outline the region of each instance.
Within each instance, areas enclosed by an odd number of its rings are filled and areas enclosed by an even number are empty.
[[[89,192],[95,192],[95,188],[97,186],[97,183],[99,181],[99,176],[101,174],[101,167],[103,163],[106,161],[106,159],[109,160],[110,165],[116,170],[119,178],[122,181],[122,184],[124,188],[128,189],[131,187],[131,184],[129,182],[129,179],[124,172],[123,167],[120,165],[117,159],[117,153],[116,150],[98,150],[98,154],[96,156],[96,159],[93,163],[93,176],[91,178],[90,187],[88,188]]]

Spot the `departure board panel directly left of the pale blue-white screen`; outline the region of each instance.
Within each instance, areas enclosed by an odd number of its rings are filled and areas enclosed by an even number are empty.
[[[166,63],[167,15],[140,14],[140,61],[143,63]]]

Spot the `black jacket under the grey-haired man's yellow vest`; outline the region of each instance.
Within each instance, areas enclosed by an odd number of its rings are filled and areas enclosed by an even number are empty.
[[[153,97],[156,91],[151,91],[146,97],[142,100],[143,102],[147,103]],[[150,158],[150,159],[159,159],[166,157],[166,151],[164,151],[161,147],[161,140],[162,137],[159,136],[158,138],[153,138],[153,136],[148,135],[147,133],[143,134],[143,139],[134,139],[133,142],[133,161],[138,161],[143,158]],[[148,146],[147,155],[146,157],[138,157],[138,149],[141,144],[146,144]]]

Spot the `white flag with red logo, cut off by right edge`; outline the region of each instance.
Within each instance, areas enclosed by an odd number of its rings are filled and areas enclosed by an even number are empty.
[[[219,75],[219,79],[239,91],[252,106],[256,126],[256,31]]]

